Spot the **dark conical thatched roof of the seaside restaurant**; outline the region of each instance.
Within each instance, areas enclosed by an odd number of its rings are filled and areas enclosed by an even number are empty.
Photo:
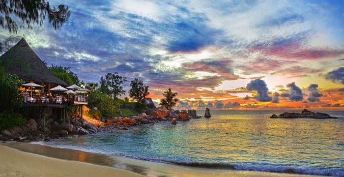
[[[49,71],[48,67],[32,51],[28,43],[22,38],[15,46],[0,56],[5,72],[16,74],[24,81],[55,83],[67,86]]]

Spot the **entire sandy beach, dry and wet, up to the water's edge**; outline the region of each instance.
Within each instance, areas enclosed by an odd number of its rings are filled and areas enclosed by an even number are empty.
[[[20,172],[24,174],[22,176],[26,177],[108,177],[113,173],[116,174],[116,177],[136,177],[141,175],[149,177],[311,177],[308,175],[284,173],[186,167],[113,157],[80,150],[53,148],[39,144],[7,143],[2,145],[16,148],[20,151],[0,146],[0,177],[18,176],[16,172]],[[16,157],[12,158],[12,156]],[[31,164],[30,161],[34,161],[34,163]],[[49,175],[46,173],[49,173]]]

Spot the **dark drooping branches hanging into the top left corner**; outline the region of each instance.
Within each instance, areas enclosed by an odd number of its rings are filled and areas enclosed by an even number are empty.
[[[51,7],[47,0],[1,0],[0,27],[17,33],[18,28],[32,29],[33,24],[42,26],[45,17],[54,29],[58,29],[68,21],[70,10],[63,4]],[[22,23],[17,24],[19,19]]]

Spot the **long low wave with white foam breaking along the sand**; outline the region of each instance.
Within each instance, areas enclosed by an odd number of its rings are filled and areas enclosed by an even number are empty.
[[[100,154],[106,154],[106,155],[111,155],[111,156],[121,156],[121,157],[127,157],[127,158],[132,158],[132,159],[144,160],[144,161],[183,165],[183,166],[189,166],[189,167],[344,177],[344,169],[341,169],[341,168],[312,168],[312,167],[301,167],[301,166],[259,164],[259,163],[179,161],[179,160],[171,160],[171,159],[163,159],[163,158],[137,157],[130,154],[121,153],[121,152],[115,152],[115,151],[108,152],[108,151],[102,151],[99,149],[94,150],[94,149],[80,147],[80,146],[57,145],[54,143],[44,143],[44,142],[37,142],[35,144],[50,146],[54,148],[67,148],[67,149],[81,150],[81,151],[86,151],[86,152],[91,152],[91,153],[100,153]]]

